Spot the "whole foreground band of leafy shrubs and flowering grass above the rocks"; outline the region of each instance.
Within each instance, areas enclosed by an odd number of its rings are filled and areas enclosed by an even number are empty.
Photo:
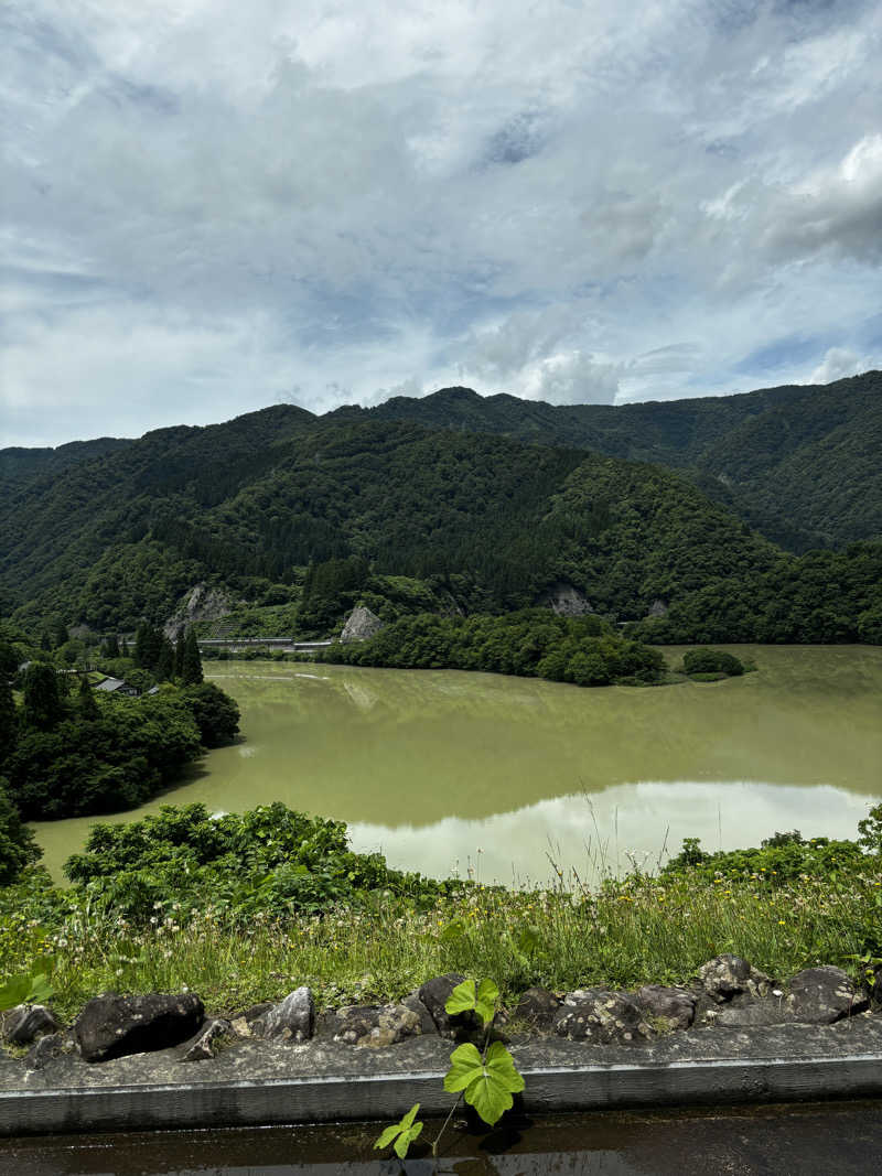
[[[683,983],[724,951],[780,978],[820,963],[860,978],[882,957],[882,806],[858,842],[687,844],[659,875],[594,863],[590,886],[561,875],[534,891],[400,875],[282,806],[216,822],[199,808],[96,830],[68,890],[33,866],[0,889],[0,982],[51,955],[71,1015],[108,989],[185,984],[227,1010],[298,984],[326,1007],[385,1002],[459,971],[494,976],[508,1004],[532,984]]]

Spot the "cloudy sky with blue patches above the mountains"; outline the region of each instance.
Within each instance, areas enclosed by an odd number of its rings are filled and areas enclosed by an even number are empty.
[[[878,0],[6,0],[0,445],[882,368]]]

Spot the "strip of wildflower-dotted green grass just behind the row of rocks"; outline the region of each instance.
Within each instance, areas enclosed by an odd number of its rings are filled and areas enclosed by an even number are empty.
[[[475,887],[428,913],[379,895],[373,906],[283,922],[265,913],[247,926],[211,907],[179,921],[169,902],[140,928],[86,907],[41,926],[39,902],[16,903],[9,888],[0,975],[52,954],[54,1004],[65,1017],[106,990],[187,987],[218,1011],[279,1000],[299,984],[314,989],[320,1007],[383,1002],[446,971],[493,977],[512,1003],[532,984],[682,983],[724,951],[777,980],[818,963],[858,978],[858,957],[878,954],[882,942],[882,878],[870,856],[866,868],[780,887],[762,875],[733,882],[687,873],[664,882],[635,875],[589,894],[570,881],[575,893]]]

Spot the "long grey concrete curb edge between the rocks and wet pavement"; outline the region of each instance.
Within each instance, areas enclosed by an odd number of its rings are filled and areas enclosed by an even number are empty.
[[[0,1135],[395,1120],[446,1114],[443,1070],[9,1090]],[[882,1054],[523,1068],[528,1114],[882,1096]]]

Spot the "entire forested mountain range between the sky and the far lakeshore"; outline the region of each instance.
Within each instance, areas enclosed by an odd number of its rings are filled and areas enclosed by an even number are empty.
[[[0,614],[131,635],[205,584],[226,632],[326,636],[359,602],[500,614],[563,586],[642,640],[877,641],[881,380],[621,408],[448,389],[5,450]],[[787,554],[750,495],[837,549]]]

